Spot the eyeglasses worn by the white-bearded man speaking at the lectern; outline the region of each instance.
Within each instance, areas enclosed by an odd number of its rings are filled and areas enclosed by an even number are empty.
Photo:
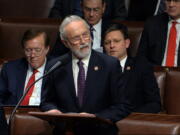
[[[72,43],[77,44],[77,43],[80,43],[82,39],[83,40],[89,40],[90,39],[90,33],[89,32],[84,32],[82,35],[72,37],[69,40]]]

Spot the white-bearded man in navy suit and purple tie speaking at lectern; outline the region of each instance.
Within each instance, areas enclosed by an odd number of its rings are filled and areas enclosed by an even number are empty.
[[[125,94],[120,95],[121,85],[118,88],[119,61],[91,49],[89,25],[78,16],[65,18],[60,33],[71,52],[67,64],[50,75],[42,110],[53,114],[73,112],[98,116],[112,122],[127,116],[131,106]],[[117,132],[115,125],[86,124],[76,123],[75,134],[114,135]],[[60,128],[56,128],[57,134]]]

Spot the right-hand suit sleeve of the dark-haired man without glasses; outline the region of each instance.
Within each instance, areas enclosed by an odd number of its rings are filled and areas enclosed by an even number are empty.
[[[142,85],[145,103],[138,107],[135,111],[142,113],[158,113],[161,110],[161,98],[158,84],[154,76],[152,66],[145,60],[142,61],[143,69],[141,69]],[[143,97],[142,97],[143,98]],[[135,99],[136,100],[136,99]]]

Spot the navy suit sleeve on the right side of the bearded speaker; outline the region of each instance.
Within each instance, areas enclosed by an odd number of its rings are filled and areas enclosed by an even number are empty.
[[[122,74],[119,61],[116,64],[111,64],[112,70],[110,75],[110,91],[111,95],[107,98],[111,98],[111,105],[96,116],[109,119],[112,122],[119,121],[126,117],[133,109],[130,100],[124,93],[122,84]]]

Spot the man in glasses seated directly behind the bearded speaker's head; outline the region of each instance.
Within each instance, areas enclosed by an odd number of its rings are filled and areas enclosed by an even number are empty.
[[[106,2],[105,0],[82,0],[82,12],[83,17],[87,21],[87,23],[91,26],[91,36],[93,39],[92,48],[103,52],[102,48],[102,40],[101,37],[104,34],[105,29],[109,25],[109,21],[103,19],[103,15],[106,10]],[[50,55],[52,56],[59,56],[66,52],[68,52],[60,38],[58,37],[55,46],[52,49]]]

